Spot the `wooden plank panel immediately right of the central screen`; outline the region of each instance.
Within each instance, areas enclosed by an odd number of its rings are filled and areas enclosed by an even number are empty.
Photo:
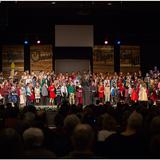
[[[97,45],[93,48],[93,72],[114,72],[114,46]]]

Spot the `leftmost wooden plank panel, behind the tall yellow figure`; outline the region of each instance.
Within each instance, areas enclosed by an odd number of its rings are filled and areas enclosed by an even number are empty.
[[[15,71],[24,71],[24,47],[23,45],[2,46],[3,72],[10,74],[11,63],[15,64]]]

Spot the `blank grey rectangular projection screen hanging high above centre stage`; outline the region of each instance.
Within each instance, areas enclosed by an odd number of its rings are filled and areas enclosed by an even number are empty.
[[[93,25],[55,25],[56,47],[93,47]]]

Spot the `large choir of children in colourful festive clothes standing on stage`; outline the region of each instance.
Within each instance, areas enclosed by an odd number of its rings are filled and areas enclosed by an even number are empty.
[[[0,75],[0,102],[26,105],[131,103],[160,99],[160,73],[157,67],[142,76],[135,73],[58,73],[25,71],[21,76]]]

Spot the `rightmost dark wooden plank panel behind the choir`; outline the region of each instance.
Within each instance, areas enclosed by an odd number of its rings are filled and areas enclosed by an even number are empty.
[[[120,47],[120,71],[140,70],[140,46],[123,45]]]

